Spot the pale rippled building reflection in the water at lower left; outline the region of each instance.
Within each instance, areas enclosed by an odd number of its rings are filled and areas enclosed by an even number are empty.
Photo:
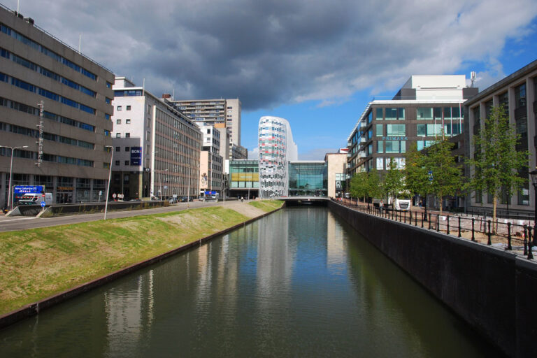
[[[153,320],[153,271],[129,280],[104,294],[108,328],[108,355],[138,354],[143,331]]]

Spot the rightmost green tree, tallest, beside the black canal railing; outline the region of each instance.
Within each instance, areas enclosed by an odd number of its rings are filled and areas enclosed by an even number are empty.
[[[485,120],[485,128],[473,137],[475,148],[473,158],[467,159],[472,168],[469,186],[476,192],[488,192],[492,195],[492,220],[496,221],[496,207],[502,190],[507,196],[520,189],[528,169],[529,152],[517,151],[520,141],[514,124],[509,123],[509,116],[503,106],[492,108],[492,113]]]

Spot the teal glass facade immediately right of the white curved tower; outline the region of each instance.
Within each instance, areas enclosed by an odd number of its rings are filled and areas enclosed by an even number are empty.
[[[326,162],[289,162],[289,196],[327,196]]]

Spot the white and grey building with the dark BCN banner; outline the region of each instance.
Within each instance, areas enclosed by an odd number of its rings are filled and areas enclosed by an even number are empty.
[[[125,199],[197,196],[201,131],[196,124],[124,77],[115,78],[113,90],[110,192]]]

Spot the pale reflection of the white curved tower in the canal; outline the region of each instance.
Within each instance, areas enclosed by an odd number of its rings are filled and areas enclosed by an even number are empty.
[[[296,241],[289,243],[287,213],[268,215],[259,225],[257,242],[257,290],[262,296],[279,295],[273,287],[290,287]]]

